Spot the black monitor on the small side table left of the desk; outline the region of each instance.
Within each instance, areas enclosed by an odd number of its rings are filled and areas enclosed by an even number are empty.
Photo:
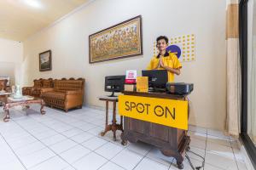
[[[125,89],[125,75],[105,77],[105,91],[112,92],[109,97],[116,97],[114,92],[123,92]]]

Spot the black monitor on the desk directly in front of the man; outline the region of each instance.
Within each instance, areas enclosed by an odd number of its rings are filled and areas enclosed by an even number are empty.
[[[154,91],[166,90],[166,82],[168,82],[166,70],[143,71],[143,77],[148,77],[148,88],[153,88]]]

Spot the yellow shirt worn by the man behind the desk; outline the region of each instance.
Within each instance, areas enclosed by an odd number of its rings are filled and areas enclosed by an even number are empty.
[[[159,65],[159,60],[160,60],[160,54],[156,57],[153,57],[153,59],[150,60],[150,63],[148,64],[147,69],[148,70],[153,70]],[[172,53],[167,53],[163,56],[162,58],[163,64],[172,68],[172,69],[177,69],[177,68],[182,68],[181,63],[177,59],[176,54]],[[157,70],[164,70],[164,68],[159,67]],[[171,71],[168,71],[168,82],[174,82],[174,74]]]

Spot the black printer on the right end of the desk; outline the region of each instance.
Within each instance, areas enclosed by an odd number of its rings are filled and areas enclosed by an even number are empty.
[[[194,84],[185,82],[166,82],[166,93],[187,95],[193,91]]]

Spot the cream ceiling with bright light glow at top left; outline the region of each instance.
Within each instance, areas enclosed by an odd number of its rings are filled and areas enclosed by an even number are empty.
[[[89,0],[0,0],[0,37],[23,41]]]

